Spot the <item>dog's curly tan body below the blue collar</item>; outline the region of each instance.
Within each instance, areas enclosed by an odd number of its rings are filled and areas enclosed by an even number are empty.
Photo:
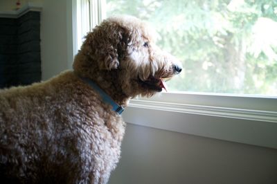
[[[7,183],[107,183],[125,123],[89,85],[68,71],[0,94],[0,172]]]

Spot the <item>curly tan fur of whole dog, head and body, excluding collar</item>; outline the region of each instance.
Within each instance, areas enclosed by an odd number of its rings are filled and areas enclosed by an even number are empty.
[[[51,80],[0,91],[1,183],[107,183],[125,122],[82,78],[124,107],[162,90],[181,65],[134,17],[111,17],[88,33],[73,62]]]

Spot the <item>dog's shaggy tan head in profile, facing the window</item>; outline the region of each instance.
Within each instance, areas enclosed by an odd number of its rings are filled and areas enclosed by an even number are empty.
[[[73,68],[92,80],[113,80],[125,95],[134,97],[166,89],[165,80],[180,73],[182,66],[156,46],[152,29],[125,16],[111,17],[96,26],[87,35]]]

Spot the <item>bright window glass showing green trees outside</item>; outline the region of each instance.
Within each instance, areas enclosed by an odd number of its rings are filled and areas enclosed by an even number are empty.
[[[107,16],[134,15],[184,72],[172,91],[277,95],[277,3],[272,0],[107,0]]]

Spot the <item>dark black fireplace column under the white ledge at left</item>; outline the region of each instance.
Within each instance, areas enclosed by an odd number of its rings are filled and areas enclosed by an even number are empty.
[[[0,88],[28,85],[41,78],[40,13],[0,18]]]

